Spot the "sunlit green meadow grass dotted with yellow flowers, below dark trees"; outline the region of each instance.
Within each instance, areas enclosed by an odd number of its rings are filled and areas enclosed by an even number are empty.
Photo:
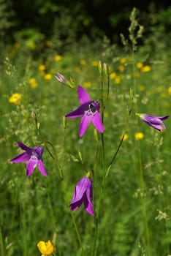
[[[156,46],[147,56],[145,45],[110,54],[107,49],[110,45],[102,51],[78,50],[73,44],[64,55],[49,53],[46,59],[32,58],[20,45],[4,53],[1,256],[40,255],[37,243],[47,240],[56,246],[54,255],[171,254],[170,118],[160,133],[135,116],[170,115],[170,54]],[[104,135],[91,124],[79,138],[80,118],[64,120],[79,102],[75,90],[58,83],[56,72],[83,86],[91,99],[103,97]],[[12,104],[9,98],[15,93],[21,99]],[[26,177],[26,163],[9,162],[21,153],[18,141],[30,147],[49,142],[43,154],[48,178],[38,168]],[[69,211],[75,184],[86,171],[94,181],[96,217],[83,207]]]

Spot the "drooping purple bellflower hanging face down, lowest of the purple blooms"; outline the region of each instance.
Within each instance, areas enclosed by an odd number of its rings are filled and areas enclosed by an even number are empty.
[[[92,181],[87,177],[83,177],[78,181],[75,186],[75,192],[72,197],[72,202],[70,203],[71,211],[77,210],[82,203],[84,203],[84,207],[88,214],[94,216],[94,212],[92,211],[93,203],[93,189],[92,189]]]

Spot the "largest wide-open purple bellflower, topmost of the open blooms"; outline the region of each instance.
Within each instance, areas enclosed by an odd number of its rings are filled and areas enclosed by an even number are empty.
[[[92,122],[94,127],[99,132],[104,132],[104,127],[99,114],[99,102],[91,100],[87,91],[83,87],[77,87],[77,97],[80,102],[80,107],[66,115],[66,118],[77,118],[82,116],[80,121],[79,136],[82,137],[86,132],[88,125]]]

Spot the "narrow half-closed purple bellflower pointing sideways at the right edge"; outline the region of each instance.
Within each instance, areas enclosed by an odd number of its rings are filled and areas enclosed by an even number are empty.
[[[151,116],[146,114],[136,113],[140,119],[151,127],[159,130],[159,132],[163,132],[166,128],[164,122],[162,120],[167,119],[169,116]]]

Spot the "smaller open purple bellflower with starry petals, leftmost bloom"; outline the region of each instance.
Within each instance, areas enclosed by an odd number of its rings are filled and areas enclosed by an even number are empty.
[[[38,166],[39,171],[43,176],[47,177],[47,173],[45,171],[45,167],[42,161],[43,147],[36,146],[34,148],[28,148],[28,146],[24,145],[21,142],[18,142],[18,146],[22,148],[24,153],[19,154],[17,157],[11,159],[11,162],[27,162],[26,165],[26,175],[31,176],[34,168]]]

